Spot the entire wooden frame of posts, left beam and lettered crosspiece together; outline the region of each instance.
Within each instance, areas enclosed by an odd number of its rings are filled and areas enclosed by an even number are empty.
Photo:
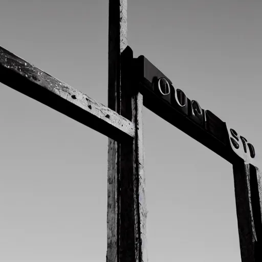
[[[262,261],[262,174],[254,147],[194,100],[186,99],[191,113],[183,114],[166,94],[155,92],[150,74],[170,87],[167,77],[144,57],[133,58],[127,46],[127,0],[109,0],[108,107],[0,47],[2,83],[108,137],[107,262],[148,261],[143,105],[232,163],[242,262]],[[173,92],[182,99],[180,91]],[[223,134],[217,123],[225,123]]]

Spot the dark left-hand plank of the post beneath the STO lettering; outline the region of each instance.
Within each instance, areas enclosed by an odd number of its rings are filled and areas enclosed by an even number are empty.
[[[255,242],[257,242],[251,204],[250,168],[238,158],[233,164],[236,215],[242,262],[256,262]]]

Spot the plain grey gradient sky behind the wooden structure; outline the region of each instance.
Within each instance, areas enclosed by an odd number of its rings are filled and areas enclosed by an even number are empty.
[[[0,7],[0,46],[107,104],[108,1]],[[256,151],[261,11],[259,0],[128,1],[134,55]],[[0,261],[105,261],[107,138],[3,84],[0,112]],[[232,166],[143,113],[149,261],[241,261]]]

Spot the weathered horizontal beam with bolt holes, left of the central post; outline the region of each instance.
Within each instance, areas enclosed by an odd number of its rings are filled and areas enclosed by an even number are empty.
[[[134,139],[131,121],[2,47],[0,82],[109,138]]]

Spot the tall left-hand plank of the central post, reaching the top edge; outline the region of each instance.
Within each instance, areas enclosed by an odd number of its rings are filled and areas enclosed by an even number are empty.
[[[109,1],[108,16],[108,107],[121,114],[121,50],[127,46],[127,0]],[[121,43],[120,43],[121,39]],[[107,169],[107,262],[120,261],[120,148],[108,139]]]

